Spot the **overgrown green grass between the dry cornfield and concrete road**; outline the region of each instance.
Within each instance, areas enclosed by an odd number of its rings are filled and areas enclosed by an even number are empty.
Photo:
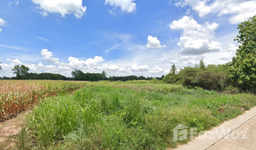
[[[34,108],[24,149],[175,148],[179,123],[206,131],[256,105],[252,94],[219,95],[161,82],[89,82]]]

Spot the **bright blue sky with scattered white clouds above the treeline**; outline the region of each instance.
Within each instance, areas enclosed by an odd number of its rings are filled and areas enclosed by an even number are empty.
[[[161,77],[198,64],[230,62],[238,24],[254,0],[2,0],[0,77],[15,65],[71,77]]]

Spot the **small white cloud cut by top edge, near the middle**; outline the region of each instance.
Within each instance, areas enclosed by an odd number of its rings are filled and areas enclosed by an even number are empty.
[[[121,7],[123,12],[132,13],[136,9],[135,0],[105,0],[105,4],[113,7]],[[113,10],[109,13],[113,13]]]

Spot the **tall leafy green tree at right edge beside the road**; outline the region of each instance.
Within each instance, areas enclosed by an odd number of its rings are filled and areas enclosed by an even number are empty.
[[[239,34],[234,41],[240,46],[237,49],[236,57],[228,62],[225,67],[228,69],[229,77],[237,82],[242,91],[256,91],[256,16],[238,25]]]

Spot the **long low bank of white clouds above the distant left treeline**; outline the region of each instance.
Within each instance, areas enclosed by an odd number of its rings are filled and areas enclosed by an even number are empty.
[[[53,56],[53,52],[48,49],[43,49],[41,55],[44,59],[48,60],[52,64],[43,64],[43,62],[38,62],[35,64],[23,62],[20,60],[26,60],[24,58],[8,58],[7,62],[2,63],[3,71],[0,72],[0,77],[8,76],[12,77],[13,72],[12,68],[18,65],[25,65],[30,68],[30,72],[52,72],[63,74],[64,76],[70,77],[71,72],[74,69],[81,70],[83,72],[98,72],[106,71],[108,76],[128,76],[128,75],[137,75],[144,77],[160,77],[167,72],[168,67],[163,67],[162,64],[157,64],[155,62],[142,64],[141,62],[126,62],[126,61],[109,61],[105,62],[103,57],[95,56],[85,58],[78,57],[68,57],[67,62],[61,62],[59,58]],[[9,63],[8,63],[9,62]],[[161,65],[161,67],[160,67]],[[163,69],[164,68],[164,69]]]

